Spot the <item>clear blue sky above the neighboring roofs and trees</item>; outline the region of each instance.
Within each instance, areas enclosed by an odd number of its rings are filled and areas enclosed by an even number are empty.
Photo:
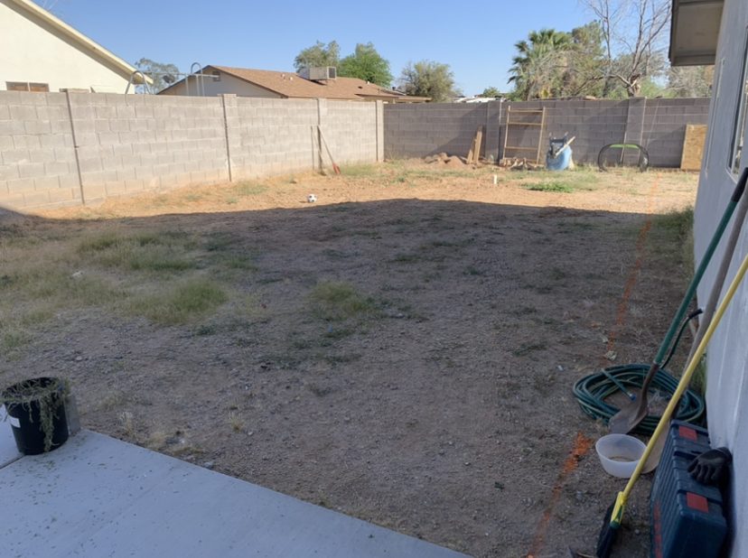
[[[592,20],[577,0],[301,2],[298,0],[37,0],[130,63],[145,57],[293,70],[296,54],[337,41],[341,56],[373,42],[396,78],[408,61],[449,64],[466,95],[507,90],[514,43],[543,27],[571,31]]]

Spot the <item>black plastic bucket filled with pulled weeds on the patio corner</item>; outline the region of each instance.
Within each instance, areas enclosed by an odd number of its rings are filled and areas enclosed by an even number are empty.
[[[38,396],[34,392],[38,392]],[[52,451],[68,440],[64,397],[64,384],[56,377],[24,380],[6,387],[0,394],[7,420],[13,428],[15,445],[23,455]],[[51,432],[45,432],[44,423],[51,425]]]

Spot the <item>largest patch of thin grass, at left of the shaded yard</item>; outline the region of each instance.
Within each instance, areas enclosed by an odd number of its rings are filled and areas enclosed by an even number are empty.
[[[97,307],[160,325],[192,322],[229,300],[232,290],[225,284],[257,269],[255,255],[241,252],[230,233],[199,239],[169,229],[95,230],[63,229],[45,237],[43,228],[14,228],[12,244],[2,238],[7,271],[0,274],[0,349],[21,349],[45,322],[68,310]],[[24,238],[36,242],[15,242]],[[255,321],[262,313],[257,301],[235,302],[242,319]]]

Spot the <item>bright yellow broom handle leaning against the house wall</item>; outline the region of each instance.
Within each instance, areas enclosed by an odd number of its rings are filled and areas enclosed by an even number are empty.
[[[683,393],[687,390],[688,384],[691,381],[691,377],[694,375],[694,372],[696,371],[698,367],[698,363],[701,361],[701,358],[704,356],[704,352],[706,351],[706,345],[708,345],[709,340],[712,339],[712,335],[714,334],[717,326],[719,325],[719,322],[722,320],[722,316],[723,314],[725,314],[725,311],[727,310],[727,306],[729,306],[730,301],[733,300],[734,293],[735,291],[737,291],[737,288],[740,286],[741,282],[743,281],[743,276],[745,275],[746,271],[748,271],[748,255],[746,255],[743,258],[743,263],[740,265],[740,268],[738,269],[737,274],[735,274],[733,283],[730,284],[730,288],[727,289],[727,293],[725,293],[725,298],[722,299],[722,302],[720,302],[719,308],[717,308],[715,312],[715,317],[712,319],[712,323],[710,323],[709,327],[706,329],[704,338],[701,339],[701,342],[698,344],[698,348],[696,349],[694,356],[691,358],[691,361],[688,363],[688,367],[686,368],[686,371],[683,373],[683,376],[680,377],[680,381],[678,381],[678,387],[676,388],[673,396],[670,397],[670,402],[668,404],[668,407],[665,409],[664,413],[662,413],[662,417],[659,419],[657,428],[652,434],[652,437],[650,438],[650,442],[647,444],[647,448],[644,450],[644,454],[641,456],[641,459],[639,460],[639,463],[637,464],[636,469],[633,472],[633,475],[631,475],[631,479],[629,479],[628,484],[626,484],[626,488],[623,488],[623,491],[619,492],[618,496],[615,498],[615,505],[613,506],[613,511],[611,515],[611,524],[621,525],[621,520],[623,516],[623,507],[626,505],[626,500],[629,498],[629,495],[631,494],[631,489],[633,488],[634,484],[636,484],[636,481],[639,480],[641,470],[644,469],[644,466],[647,463],[647,460],[650,458],[650,453],[652,452],[652,449],[654,449],[659,436],[662,435],[662,432],[666,428],[668,428],[670,417],[675,411],[676,405],[678,405],[678,401],[680,401],[681,395],[683,395]]]

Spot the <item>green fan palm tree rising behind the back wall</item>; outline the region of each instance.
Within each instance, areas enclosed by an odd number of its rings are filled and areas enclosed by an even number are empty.
[[[512,97],[558,97],[571,47],[571,35],[554,29],[532,31],[528,41],[516,42],[518,54],[512,59],[509,79],[514,83]]]

